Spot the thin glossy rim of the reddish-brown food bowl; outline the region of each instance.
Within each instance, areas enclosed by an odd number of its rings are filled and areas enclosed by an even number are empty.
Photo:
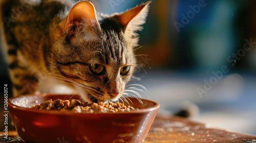
[[[142,108],[142,109],[139,109],[139,110],[132,110],[130,112],[106,112],[106,113],[75,113],[75,112],[61,112],[61,111],[57,111],[57,110],[33,110],[33,109],[29,109],[29,108],[26,108],[26,107],[20,107],[20,106],[17,106],[15,104],[13,104],[13,101],[16,99],[16,98],[20,98],[20,97],[33,97],[33,96],[37,96],[37,97],[45,97],[45,96],[79,96],[78,94],[53,94],[53,93],[39,93],[39,94],[25,94],[25,95],[22,95],[22,96],[17,96],[17,97],[12,97],[12,98],[9,98],[8,99],[8,107],[11,107],[15,110],[23,110],[23,111],[26,111],[26,112],[37,112],[37,113],[48,113],[48,114],[59,114],[59,115],[81,115],[81,114],[94,114],[94,115],[100,115],[100,114],[105,114],[105,115],[111,115],[111,114],[138,114],[138,113],[145,113],[145,112],[148,112],[148,111],[154,111],[154,110],[158,110],[160,108],[160,104],[156,101],[153,101],[153,100],[148,100],[148,99],[143,99],[143,98],[139,98],[140,100],[145,100],[145,101],[148,101],[148,102],[152,102],[154,103],[155,105],[152,106],[152,107],[149,107],[149,108]],[[136,98],[133,98],[133,97],[127,97],[129,99],[136,99]]]

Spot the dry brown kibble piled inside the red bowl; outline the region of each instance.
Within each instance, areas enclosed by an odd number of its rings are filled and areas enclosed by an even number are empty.
[[[81,102],[79,100],[61,100],[56,99],[52,101],[51,99],[45,101],[38,105],[33,105],[31,109],[38,110],[60,110],[60,111],[72,111],[76,113],[107,113],[107,112],[119,112],[119,111],[131,111],[139,110],[131,106],[125,106],[122,103],[116,102],[107,102],[103,103],[88,103]]]

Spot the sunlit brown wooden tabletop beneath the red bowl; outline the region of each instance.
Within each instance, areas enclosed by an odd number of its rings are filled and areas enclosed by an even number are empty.
[[[21,143],[16,131],[9,131],[10,142]],[[0,132],[0,142],[6,142]],[[159,117],[148,132],[144,143],[151,142],[256,142],[256,136],[207,128],[206,125],[191,122],[182,117]]]

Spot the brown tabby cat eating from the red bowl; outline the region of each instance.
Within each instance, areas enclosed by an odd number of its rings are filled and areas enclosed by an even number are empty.
[[[89,1],[3,0],[1,43],[14,96],[57,92],[92,102],[127,101],[125,84],[137,66],[136,32],[150,3],[105,15]]]

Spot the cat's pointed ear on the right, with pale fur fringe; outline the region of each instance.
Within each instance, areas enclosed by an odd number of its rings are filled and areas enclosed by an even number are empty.
[[[113,18],[123,26],[126,36],[137,36],[136,31],[143,29],[142,25],[145,23],[150,3],[151,1],[148,1],[123,13],[113,15]]]

